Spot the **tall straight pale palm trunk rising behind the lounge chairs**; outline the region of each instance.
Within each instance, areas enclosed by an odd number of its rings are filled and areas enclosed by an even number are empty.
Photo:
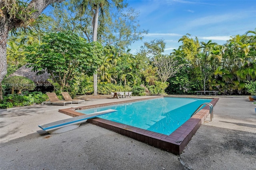
[[[96,42],[97,41],[97,32],[98,32],[98,15],[99,15],[99,6],[97,5],[96,9],[95,9],[95,16],[93,18],[94,20],[94,25],[93,25],[93,41]],[[97,72],[93,73],[93,95],[96,96],[98,95],[97,93],[97,82],[98,82],[98,76],[97,76]]]

